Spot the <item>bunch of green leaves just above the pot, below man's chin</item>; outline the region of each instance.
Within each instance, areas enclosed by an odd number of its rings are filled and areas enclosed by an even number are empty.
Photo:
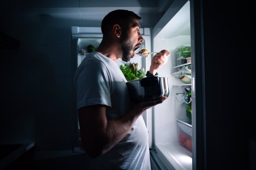
[[[138,63],[131,63],[129,66],[128,64],[120,65],[119,68],[127,81],[142,79],[146,76],[146,72],[144,72],[142,69],[138,69]]]

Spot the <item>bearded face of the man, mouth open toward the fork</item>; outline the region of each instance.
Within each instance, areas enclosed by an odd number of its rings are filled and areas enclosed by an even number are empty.
[[[137,19],[132,20],[126,31],[123,31],[121,37],[122,45],[122,61],[128,62],[135,55],[135,50],[140,48],[141,42],[144,39],[140,33],[140,24]]]

